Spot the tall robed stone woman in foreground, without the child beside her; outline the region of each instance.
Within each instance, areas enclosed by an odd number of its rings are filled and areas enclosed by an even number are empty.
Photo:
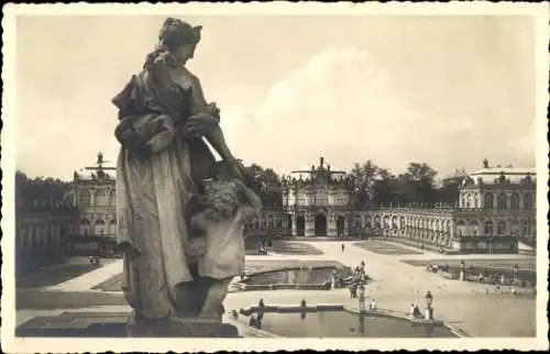
[[[204,311],[217,280],[201,276],[187,256],[189,215],[216,163],[206,141],[232,177],[250,182],[224,141],[220,110],[206,101],[199,79],[185,67],[201,29],[166,19],[143,69],[112,99],[119,110],[114,135],[121,144],[117,244],[123,252],[124,296],[143,335],[154,335],[157,324],[177,327],[182,319],[199,316],[221,323],[221,303],[208,305],[211,313]]]

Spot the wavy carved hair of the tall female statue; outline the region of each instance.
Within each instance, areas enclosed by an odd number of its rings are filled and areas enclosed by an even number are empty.
[[[158,32],[158,45],[147,55],[144,68],[148,68],[153,62],[166,53],[170,57],[170,52],[186,44],[197,44],[200,41],[201,25],[193,26],[178,19],[167,18]]]

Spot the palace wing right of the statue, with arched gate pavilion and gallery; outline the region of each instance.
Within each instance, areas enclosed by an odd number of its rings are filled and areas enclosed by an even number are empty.
[[[251,220],[249,233],[388,237],[420,247],[465,253],[516,253],[536,244],[535,168],[483,167],[464,174],[454,204],[351,207],[353,182],[321,157],[302,178],[283,179],[283,210]],[[453,177],[454,178],[454,177]],[[270,232],[271,231],[271,232]]]

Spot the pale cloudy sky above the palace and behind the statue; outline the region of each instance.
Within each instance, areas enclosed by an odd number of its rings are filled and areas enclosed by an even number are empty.
[[[201,24],[189,69],[233,154],[279,174],[367,159],[403,172],[535,166],[535,26],[527,16],[182,18]],[[70,179],[114,164],[114,97],[164,16],[16,21],[16,167]]]

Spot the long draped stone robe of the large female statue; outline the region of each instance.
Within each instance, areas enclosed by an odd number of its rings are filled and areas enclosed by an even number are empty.
[[[174,314],[185,301],[180,288],[194,279],[186,257],[189,209],[215,162],[202,139],[184,136],[201,102],[193,88],[168,79],[165,65],[160,59],[133,76],[112,100],[122,145],[117,241],[125,251],[123,290],[131,307],[150,319]]]

